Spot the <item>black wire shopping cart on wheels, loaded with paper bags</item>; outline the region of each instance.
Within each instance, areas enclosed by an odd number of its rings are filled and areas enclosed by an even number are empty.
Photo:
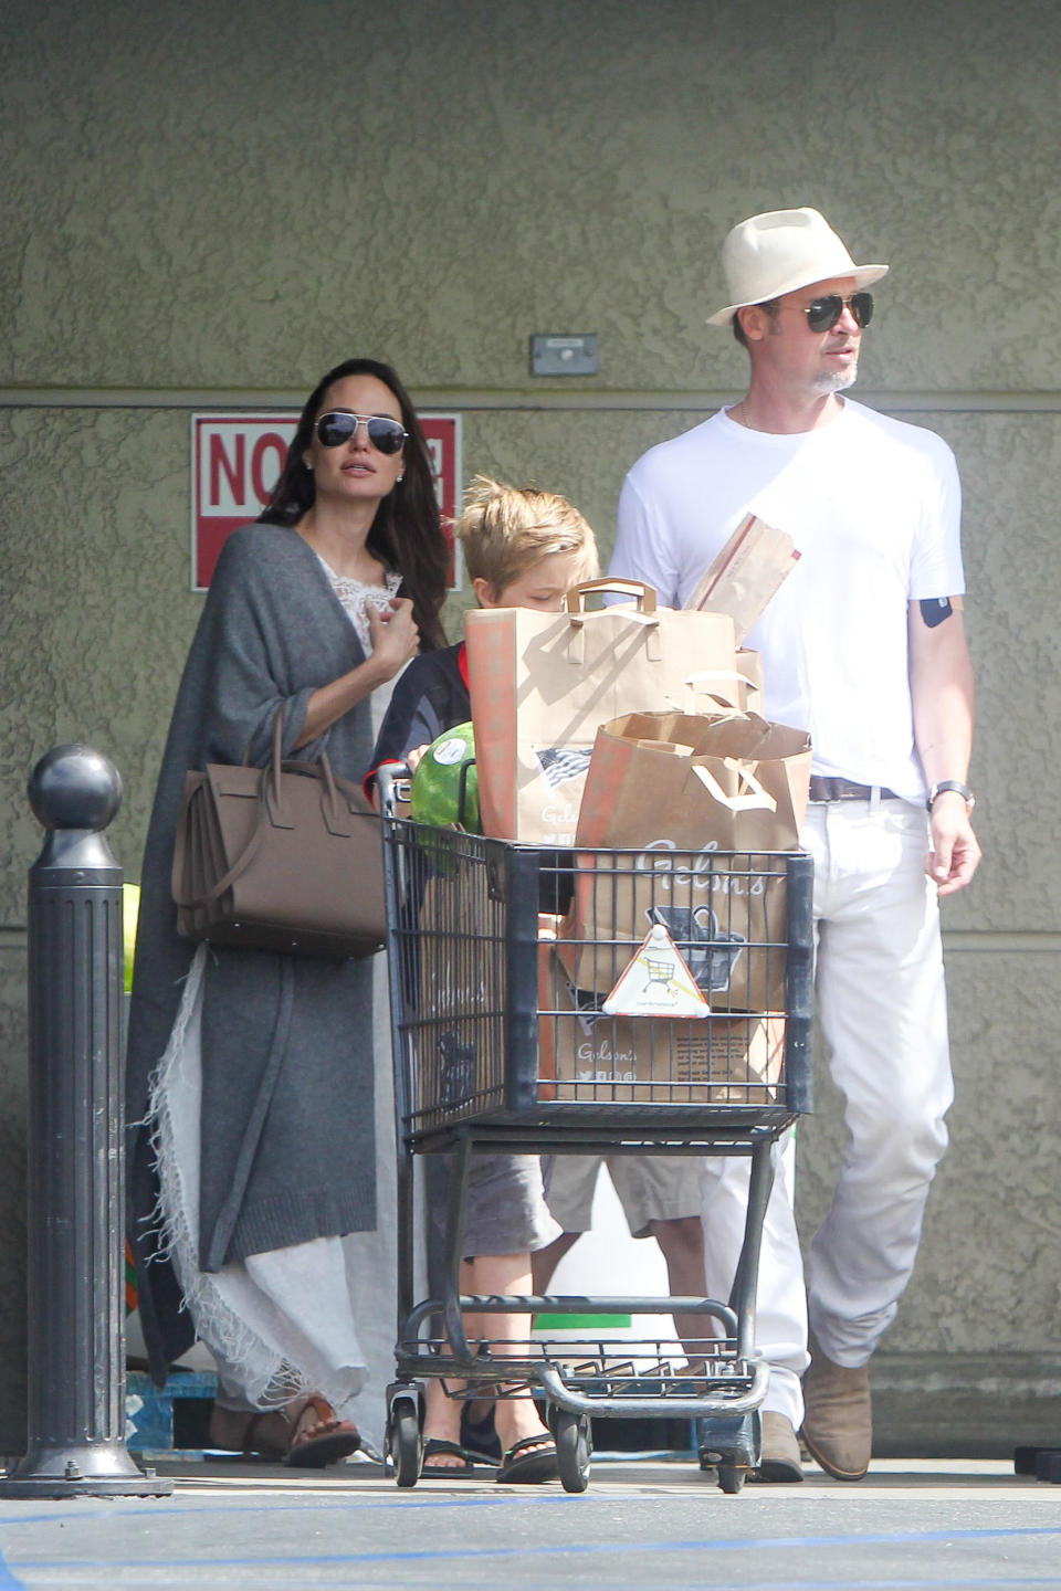
[[[759,1464],[762,1225],[781,1133],[811,1107],[811,859],[802,853],[549,851],[394,816],[380,775],[398,1126],[398,1344],[388,1453],[423,1456],[423,1383],[544,1400],[566,1491],[593,1414],[698,1419],[725,1492]],[[546,937],[542,937],[546,936]],[[714,936],[709,939],[708,936]],[[660,958],[671,961],[663,977]],[[660,985],[687,1015],[655,1015]],[[665,1002],[671,1001],[671,993]],[[744,1155],[733,1290],[716,1298],[461,1295],[472,1153]],[[452,1157],[437,1297],[415,1301],[415,1157]],[[469,1340],[464,1316],[703,1317],[684,1343]],[[511,1348],[511,1344],[509,1344]]]

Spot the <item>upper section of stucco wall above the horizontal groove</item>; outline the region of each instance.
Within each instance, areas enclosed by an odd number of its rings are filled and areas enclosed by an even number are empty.
[[[719,234],[821,204],[888,255],[869,385],[1055,387],[1050,0],[10,0],[0,380],[725,385]],[[589,315],[592,325],[587,325]],[[709,339],[709,340],[708,340]]]

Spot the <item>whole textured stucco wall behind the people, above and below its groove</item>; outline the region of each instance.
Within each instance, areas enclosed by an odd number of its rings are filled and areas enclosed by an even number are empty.
[[[555,487],[608,546],[625,468],[695,423],[694,395],[736,390],[740,350],[703,326],[717,245],[784,204],[891,263],[859,396],[942,431],[967,498],[988,859],[946,910],[954,1146],[888,1346],[1059,1349],[1061,11],[8,0],[3,27],[0,1449],[21,1440],[24,781],[59,740],[113,756],[137,875],[200,603],[189,409],[297,403],[375,353],[466,407],[466,476]],[[597,331],[600,377],[534,382],[534,331]],[[835,1112],[805,1125],[808,1222],[838,1152]]]

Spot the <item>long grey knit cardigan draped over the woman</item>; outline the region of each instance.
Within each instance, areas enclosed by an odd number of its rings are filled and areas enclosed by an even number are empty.
[[[156,1378],[191,1341],[157,1247],[150,1082],[173,1028],[194,945],[170,896],[185,773],[270,754],[285,710],[285,756],[315,689],[364,660],[320,560],[294,530],[243,525],[227,539],[188,655],[162,757],[142,875],[129,1021],[129,1236]],[[372,753],[367,700],[304,746],[361,780]],[[375,1227],[372,967],[210,948],[202,1010],[205,1271],[286,1244]],[[150,1260],[150,1263],[148,1263]]]

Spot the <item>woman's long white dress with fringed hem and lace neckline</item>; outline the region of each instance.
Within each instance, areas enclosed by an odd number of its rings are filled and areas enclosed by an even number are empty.
[[[388,573],[383,585],[366,585],[336,574],[323,558],[321,565],[366,657],[371,655],[366,608],[387,608],[401,578]],[[374,732],[379,732],[393,687],[390,681],[372,692]],[[380,1453],[396,1327],[396,1233],[393,1219],[383,1214],[394,1209],[387,961],[375,956],[372,963],[377,1208],[382,1212],[377,1230],[313,1238],[207,1273],[199,1270],[199,1133],[202,986],[208,955],[205,943],[196,951],[151,1093],[161,1244],[172,1257],[196,1333],[216,1360],[223,1408],[275,1408],[299,1394],[320,1392],[340,1418],[356,1422],[363,1446]]]

